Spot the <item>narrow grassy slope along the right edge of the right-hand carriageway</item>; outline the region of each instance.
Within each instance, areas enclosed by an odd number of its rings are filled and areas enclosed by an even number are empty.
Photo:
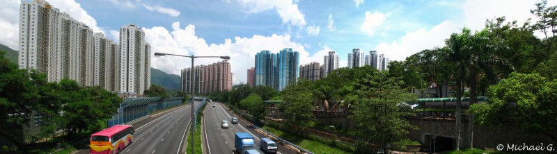
[[[327,144],[324,144],[322,142],[318,142],[315,140],[311,140],[311,139],[304,139],[304,137],[299,137],[297,135],[292,135],[288,132],[283,132],[281,130],[277,130],[275,128],[269,127],[269,126],[264,126],[263,127],[264,130],[267,130],[268,132],[271,132],[272,134],[281,137],[285,140],[287,140],[288,142],[292,143],[292,144],[296,144],[297,146],[300,146],[301,148],[304,148],[308,151],[311,151],[312,153],[351,153],[350,151],[343,151],[340,148],[335,148],[335,147],[331,147]]]

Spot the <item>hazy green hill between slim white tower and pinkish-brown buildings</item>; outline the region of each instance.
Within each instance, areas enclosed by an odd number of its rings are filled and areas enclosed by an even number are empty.
[[[151,84],[160,85],[166,90],[180,89],[181,79],[178,75],[166,74],[164,71],[151,68]]]

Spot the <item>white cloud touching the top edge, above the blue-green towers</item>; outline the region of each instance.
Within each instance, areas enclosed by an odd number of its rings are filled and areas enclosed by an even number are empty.
[[[258,13],[265,10],[275,9],[281,17],[283,24],[292,26],[305,26],[306,19],[304,14],[298,9],[296,1],[292,0],[238,0],[242,6],[248,8],[248,13]]]

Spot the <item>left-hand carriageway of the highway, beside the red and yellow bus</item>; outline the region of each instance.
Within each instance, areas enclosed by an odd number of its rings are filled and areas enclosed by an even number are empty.
[[[134,124],[134,140],[121,153],[185,153],[190,117],[191,105],[185,105]],[[89,149],[77,153],[89,153]]]

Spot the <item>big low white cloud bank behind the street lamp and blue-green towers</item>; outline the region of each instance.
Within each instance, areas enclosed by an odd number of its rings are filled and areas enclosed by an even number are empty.
[[[310,56],[302,44],[292,42],[290,35],[262,36],[253,35],[252,37],[235,37],[226,39],[222,44],[207,44],[207,42],[196,36],[195,26],[187,25],[180,28],[180,23],[172,24],[172,30],[168,31],[163,27],[143,28],[146,35],[146,42],[152,46],[151,53],[164,52],[180,55],[228,55],[230,56],[230,66],[233,72],[233,84],[246,83],[246,69],[254,67],[255,55],[262,50],[269,50],[273,53],[284,48],[292,48],[298,51],[300,63],[308,63],[313,60],[322,60],[322,53],[317,52]],[[319,58],[321,56],[321,58]],[[196,59],[195,65],[210,65],[219,62],[218,58]],[[164,56],[155,58],[151,55],[151,67],[161,69],[171,74],[180,74],[180,69],[190,67],[191,61],[188,58],[175,56]]]

